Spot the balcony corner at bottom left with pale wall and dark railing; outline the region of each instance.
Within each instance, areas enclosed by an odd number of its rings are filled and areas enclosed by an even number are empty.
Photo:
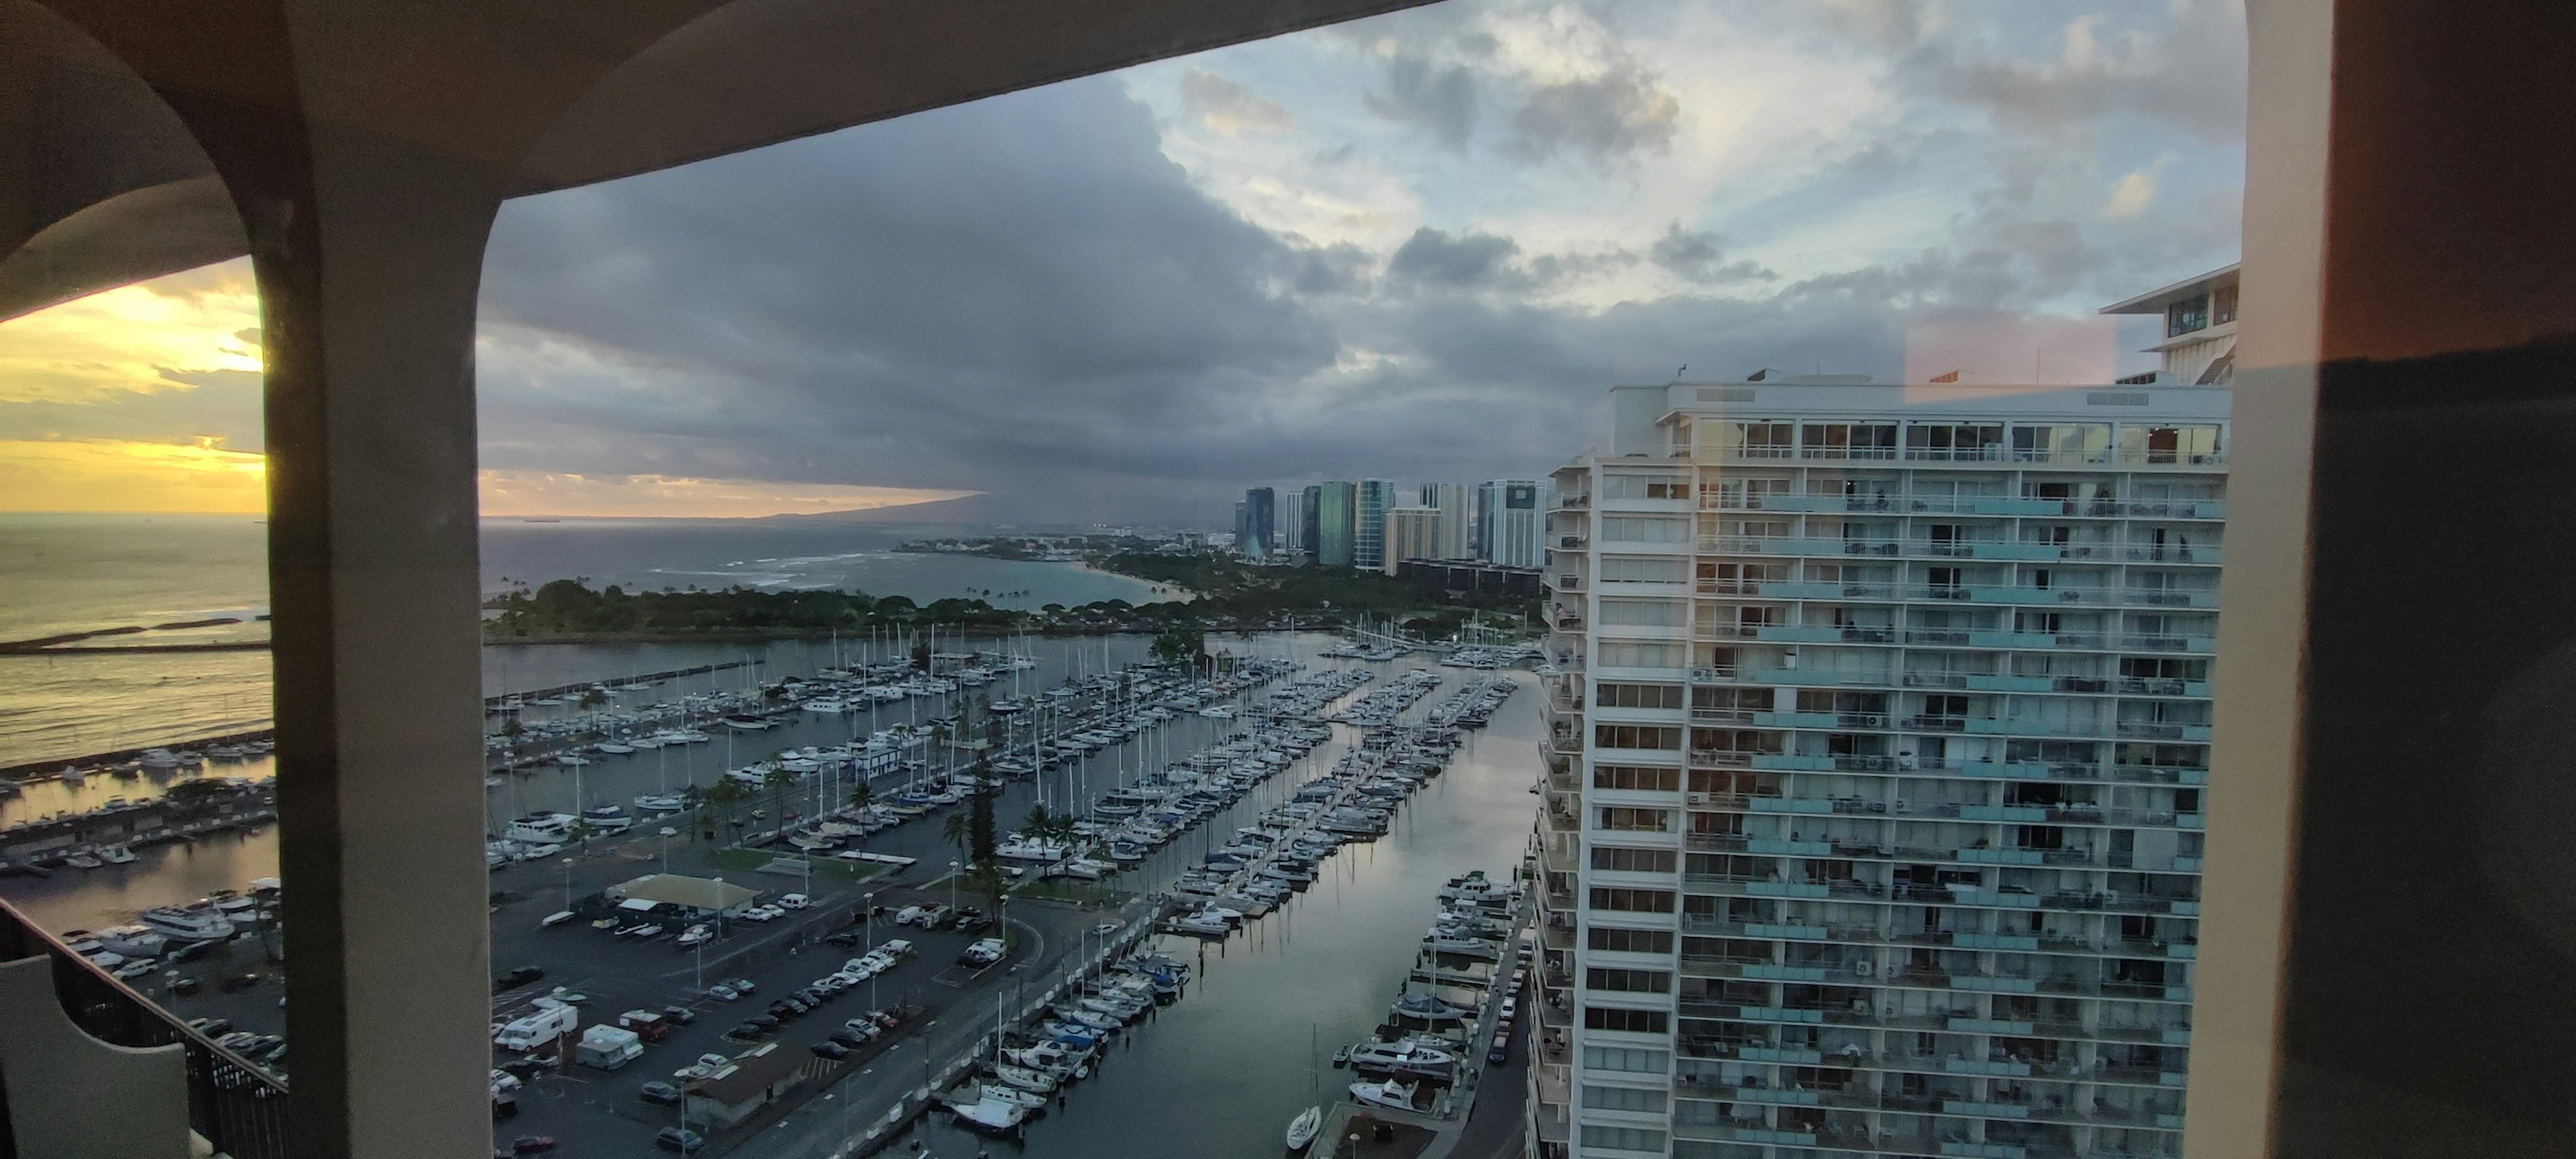
[[[28,1159],[286,1159],[286,1084],[0,901],[0,1151],[13,1141]]]

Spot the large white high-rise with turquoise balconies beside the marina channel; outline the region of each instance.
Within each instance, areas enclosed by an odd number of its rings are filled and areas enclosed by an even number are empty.
[[[1548,510],[1533,1154],[2179,1154],[2226,435],[1613,389]]]

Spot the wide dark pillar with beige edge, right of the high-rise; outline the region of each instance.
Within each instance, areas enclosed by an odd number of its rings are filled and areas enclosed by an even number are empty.
[[[2187,1151],[2571,1154],[2576,8],[2246,13]]]

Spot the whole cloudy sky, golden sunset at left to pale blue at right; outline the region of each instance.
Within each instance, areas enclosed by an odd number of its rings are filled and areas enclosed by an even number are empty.
[[[2231,0],[1450,0],[510,203],[495,513],[1561,464],[1613,381],[2097,381],[2236,260]],[[240,263],[0,325],[0,502],[258,505]],[[245,507],[247,505],[247,507]]]

